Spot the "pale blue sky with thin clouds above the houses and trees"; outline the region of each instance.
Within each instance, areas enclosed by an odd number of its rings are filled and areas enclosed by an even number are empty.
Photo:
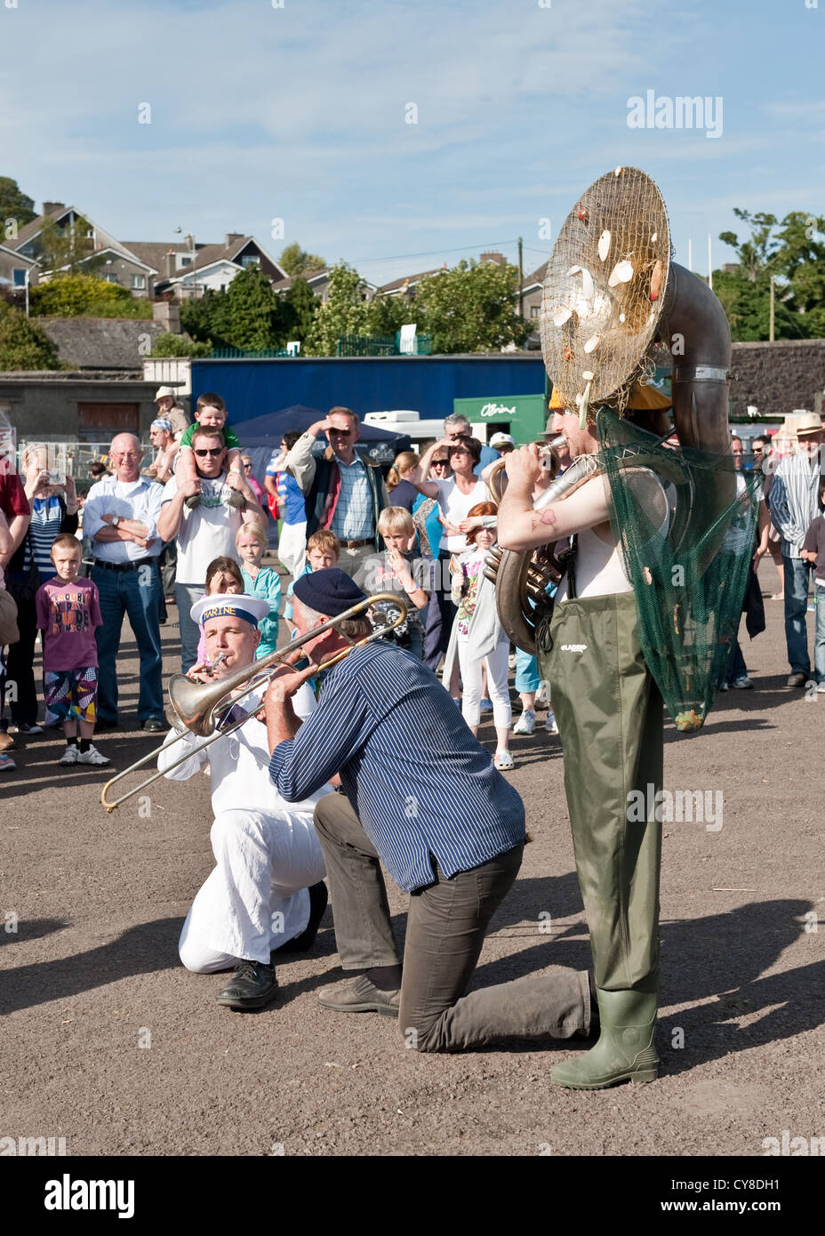
[[[521,235],[530,271],[620,163],[700,272],[734,206],[825,213],[825,0],[9,2],[0,174],[121,240],[296,240],[382,283]],[[648,90],[721,98],[721,135],[630,129]]]

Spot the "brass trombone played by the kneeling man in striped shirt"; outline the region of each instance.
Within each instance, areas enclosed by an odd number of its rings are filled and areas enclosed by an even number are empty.
[[[314,627],[312,630],[308,630],[305,635],[299,635],[298,639],[293,639],[284,648],[269,653],[267,656],[262,656],[259,661],[254,661],[252,665],[243,665],[237,669],[233,674],[228,674],[225,679],[217,679],[215,682],[193,682],[188,679],[185,674],[173,674],[169,679],[169,707],[167,708],[167,718],[172,723],[173,729],[175,729],[177,737],[172,738],[156,747],[154,750],[149,751],[142,759],[136,760],[135,764],[130,764],[127,769],[122,772],[117,772],[116,776],[106,781],[103,787],[103,794],[100,795],[100,801],[107,812],[112,812],[115,807],[120,807],[121,802],[126,802],[133,795],[140,794],[144,790],[147,785],[152,785],[159,777],[165,776],[172,769],[177,769],[179,764],[190,759],[193,750],[188,750],[179,760],[169,764],[163,771],[157,771],[152,776],[146,777],[141,781],[133,790],[128,794],[122,794],[120,798],[115,798],[111,802],[107,798],[110,789],[124,777],[130,776],[136,769],[142,768],[148,764],[149,760],[157,760],[161,751],[169,747],[173,747],[180,739],[185,738],[188,734],[198,734],[205,738],[206,742],[200,743],[195,750],[203,751],[205,747],[210,743],[216,742],[219,738],[231,734],[233,729],[242,726],[249,717],[253,717],[259,711],[259,705],[256,708],[249,708],[248,712],[242,712],[240,717],[228,724],[220,723],[217,721],[219,713],[221,711],[231,709],[232,705],[236,705],[245,696],[249,695],[252,691],[257,690],[262,682],[269,684],[275,676],[275,671],[282,665],[289,665],[290,669],[295,669],[295,665],[287,660],[290,653],[294,653],[296,648],[300,648],[306,643],[308,639],[315,639],[316,635],[322,635],[324,632],[336,628],[338,623],[346,622],[351,618],[357,618],[366,609],[372,606],[389,603],[398,609],[398,616],[390,622],[387,619],[383,627],[377,630],[371,632],[369,635],[364,635],[359,640],[350,640],[350,648],[341,649],[335,656],[331,656],[322,665],[319,665],[317,672],[321,674],[322,670],[329,670],[332,665],[337,665],[342,661],[345,656],[354,651],[357,648],[363,648],[364,644],[372,644],[374,639],[380,639],[387,635],[388,632],[395,630],[400,627],[406,618],[406,604],[400,597],[395,596],[394,592],[375,592],[371,597],[366,597],[364,601],[359,601],[357,604],[352,606],[350,609],[345,609],[342,614],[337,614],[335,618],[330,618],[327,622],[320,623],[320,625]],[[345,635],[345,639],[348,639]],[[238,690],[242,688],[242,690]],[[237,693],[235,693],[237,692]],[[230,698],[231,697],[231,698]]]

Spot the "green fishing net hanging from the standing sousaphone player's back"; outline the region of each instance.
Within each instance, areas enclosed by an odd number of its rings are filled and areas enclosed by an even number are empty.
[[[636,595],[645,661],[681,733],[704,723],[739,630],[762,476],[664,446],[603,408],[608,506]]]

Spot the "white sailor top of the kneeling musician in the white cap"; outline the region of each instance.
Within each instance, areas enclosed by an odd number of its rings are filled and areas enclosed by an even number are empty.
[[[256,707],[263,698],[264,687],[251,691],[241,700],[238,707],[245,712]],[[311,701],[311,703],[310,703]],[[296,716],[304,721],[316,705],[315,696],[310,687],[304,687],[293,698],[293,707]],[[177,737],[177,732],[170,729],[165,743],[170,743]],[[267,727],[257,721],[254,716],[245,721],[231,734],[216,739],[204,750],[205,738],[198,734],[186,733],[180,742],[173,747],[165,744],[158,755],[158,770],[164,771],[189,749],[191,755],[177,769],[167,772],[170,781],[188,781],[189,777],[199,772],[205,764],[211,768],[212,785],[212,811],[219,816],[222,811],[231,811],[238,807],[249,811],[262,811],[268,815],[279,811],[294,812],[315,808],[315,803],[324,795],[332,792],[331,785],[324,785],[315,794],[309,795],[301,802],[287,802],[280,797],[278,790],[269,780],[269,745],[267,743]]]

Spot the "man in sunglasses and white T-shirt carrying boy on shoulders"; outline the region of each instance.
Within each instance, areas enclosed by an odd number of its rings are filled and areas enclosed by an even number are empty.
[[[242,523],[253,519],[266,525],[257,502],[245,499],[242,507],[231,507],[226,497],[227,449],[220,429],[204,426],[191,440],[195,456],[195,480],[179,481],[177,476],[163,489],[163,506],[158,533],[163,540],[178,538],[178,574],[175,599],[180,620],[180,669],[183,674],[198,659],[200,630],[190,609],[200,601],[206,587],[206,569],[215,557],[235,557],[235,538]],[[186,498],[200,494],[196,507],[188,507]]]

